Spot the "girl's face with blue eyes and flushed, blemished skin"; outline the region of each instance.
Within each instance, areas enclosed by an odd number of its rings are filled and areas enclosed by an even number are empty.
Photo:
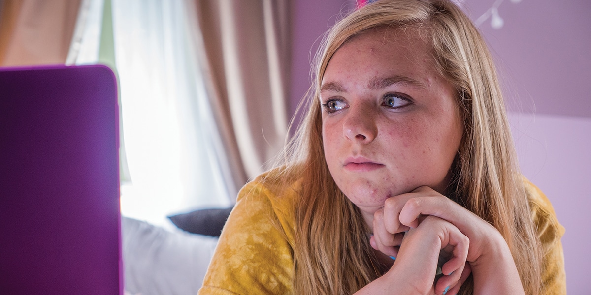
[[[389,28],[353,37],[322,79],[326,163],[366,221],[385,199],[418,186],[443,193],[462,139],[454,89],[419,34]]]

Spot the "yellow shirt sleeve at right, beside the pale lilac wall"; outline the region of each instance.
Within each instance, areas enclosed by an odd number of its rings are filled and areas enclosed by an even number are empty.
[[[543,290],[540,294],[566,294],[564,253],[560,241],[564,227],[558,222],[554,208],[544,193],[531,182],[526,182],[525,186],[544,254],[541,270]]]

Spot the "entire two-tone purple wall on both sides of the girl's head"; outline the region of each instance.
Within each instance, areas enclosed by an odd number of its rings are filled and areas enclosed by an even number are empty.
[[[495,0],[456,0],[473,20]],[[319,36],[354,0],[294,3],[291,104],[310,86]],[[591,1],[511,0],[480,25],[496,58],[521,168],[553,202],[563,237],[570,294],[591,294]],[[313,50],[310,51],[310,48]],[[533,115],[535,113],[535,116]]]

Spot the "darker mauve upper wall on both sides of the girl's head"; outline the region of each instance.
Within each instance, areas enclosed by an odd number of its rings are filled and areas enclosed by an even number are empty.
[[[491,27],[490,19],[480,25],[504,85],[511,89],[509,111],[591,117],[591,1],[519,1],[499,6],[500,30]],[[495,1],[456,2],[477,19]],[[294,3],[290,112],[310,86],[310,61],[319,37],[341,11],[354,6],[354,0]]]

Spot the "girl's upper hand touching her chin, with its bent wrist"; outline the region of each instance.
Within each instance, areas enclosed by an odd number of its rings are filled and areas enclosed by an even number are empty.
[[[466,260],[474,274],[475,293],[523,293],[511,251],[496,228],[428,186],[386,200],[374,216],[372,247],[398,254],[401,232],[418,229],[426,216],[450,222],[469,239]]]

